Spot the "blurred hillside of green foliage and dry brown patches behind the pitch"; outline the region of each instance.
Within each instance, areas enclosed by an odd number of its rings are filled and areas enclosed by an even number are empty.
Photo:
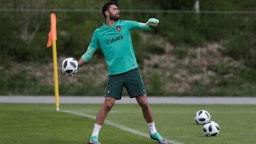
[[[106,1],[0,1],[0,94],[53,94],[50,13],[58,18],[58,64],[79,58],[104,22]],[[122,19],[160,19],[155,31],[132,31],[149,95],[255,96],[256,1],[119,1]],[[67,11],[68,10],[68,11]],[[130,10],[139,10],[132,12]],[[161,12],[156,12],[161,11]],[[60,94],[103,94],[100,50],[75,77],[59,70]]]

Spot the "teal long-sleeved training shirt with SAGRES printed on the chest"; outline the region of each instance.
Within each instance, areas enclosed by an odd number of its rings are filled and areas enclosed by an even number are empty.
[[[118,20],[114,26],[100,26],[92,35],[82,60],[87,62],[97,48],[101,48],[109,67],[109,74],[120,74],[138,67],[132,45],[132,29],[152,30],[146,23]]]

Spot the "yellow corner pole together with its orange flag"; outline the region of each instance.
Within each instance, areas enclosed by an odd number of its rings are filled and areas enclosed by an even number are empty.
[[[60,102],[59,102],[59,89],[58,89],[58,66],[57,66],[57,48],[56,48],[56,40],[57,40],[57,18],[55,13],[50,13],[50,32],[48,34],[48,43],[47,47],[53,45],[53,73],[54,73],[54,89],[55,89],[55,106],[56,111],[59,111]]]

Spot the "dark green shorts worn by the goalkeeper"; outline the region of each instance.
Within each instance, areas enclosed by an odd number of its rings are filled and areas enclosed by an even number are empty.
[[[109,75],[105,96],[121,99],[123,88],[127,89],[129,96],[136,97],[146,94],[142,75],[139,68],[121,74]]]

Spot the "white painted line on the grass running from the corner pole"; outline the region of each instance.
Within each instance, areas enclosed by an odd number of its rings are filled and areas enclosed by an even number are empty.
[[[91,118],[91,119],[94,119],[94,120],[96,118],[96,116],[92,116],[92,115],[86,114],[86,113],[77,113],[77,112],[74,112],[74,111],[66,111],[66,110],[63,110],[63,111],[60,111],[60,112],[71,113],[71,114],[75,114],[75,115],[78,115],[78,116],[85,116],[87,118]],[[107,125],[114,126],[116,128],[122,129],[124,131],[129,131],[130,133],[134,133],[134,134],[137,134],[137,135],[141,135],[141,136],[145,136],[147,138],[150,138],[148,133],[142,133],[141,131],[137,131],[137,130],[134,130],[132,128],[128,128],[126,126],[122,126],[122,125],[120,125],[118,123],[114,123],[112,121],[105,120],[104,123],[106,123]],[[168,139],[166,139],[166,140],[168,140]],[[173,143],[173,144],[183,144],[183,143],[178,143],[174,140],[168,140],[168,142]]]

